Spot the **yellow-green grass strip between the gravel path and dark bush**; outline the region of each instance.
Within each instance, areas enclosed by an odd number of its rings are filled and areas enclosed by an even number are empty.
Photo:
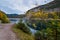
[[[16,25],[14,25],[13,31],[16,33],[17,38],[18,38],[19,40],[34,40],[34,36],[29,35],[29,34],[23,32],[23,31],[20,30],[20,29],[17,29],[17,28],[16,28]]]

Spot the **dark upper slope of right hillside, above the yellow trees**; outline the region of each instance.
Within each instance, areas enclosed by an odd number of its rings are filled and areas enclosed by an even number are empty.
[[[29,11],[37,12],[39,10],[43,10],[45,12],[60,11],[60,1],[55,0],[55,1],[52,1],[45,5],[40,5],[38,7],[32,8],[32,9],[28,10],[27,12],[29,12]]]

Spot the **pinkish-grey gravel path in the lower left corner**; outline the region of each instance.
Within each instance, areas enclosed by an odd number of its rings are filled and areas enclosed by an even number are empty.
[[[0,40],[17,40],[16,35],[12,32],[13,24],[0,24]]]

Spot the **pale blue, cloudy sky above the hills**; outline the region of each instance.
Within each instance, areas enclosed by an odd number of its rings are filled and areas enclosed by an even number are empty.
[[[24,14],[31,8],[51,1],[53,0],[0,0],[0,10],[7,14]]]

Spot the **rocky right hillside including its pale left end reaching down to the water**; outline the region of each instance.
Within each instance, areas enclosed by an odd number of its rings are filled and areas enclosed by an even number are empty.
[[[44,13],[47,13],[47,12],[59,12],[60,13],[60,1],[52,1],[50,3],[47,3],[45,5],[41,5],[41,6],[38,6],[38,7],[35,7],[35,8],[32,8],[30,10],[28,10],[26,12],[26,18],[28,20],[30,20],[30,17],[32,16],[32,14],[34,13],[37,13],[37,12],[44,12]]]

